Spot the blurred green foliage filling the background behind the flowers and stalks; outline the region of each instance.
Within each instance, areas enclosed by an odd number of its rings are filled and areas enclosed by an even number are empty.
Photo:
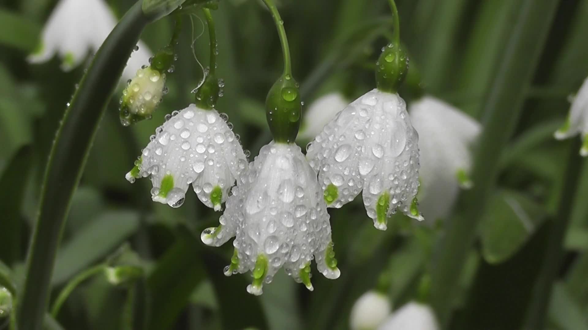
[[[58,59],[44,65],[26,62],[56,2],[0,0],[0,285],[9,289],[22,284],[49,148],[87,65],[65,73]],[[134,3],[108,2],[119,17]],[[411,72],[418,69],[421,75],[420,87],[484,123],[483,101],[494,92],[490,87],[497,65],[523,2],[398,0],[402,42],[411,56]],[[374,63],[391,32],[386,1],[278,4],[293,75],[306,105],[326,92],[338,90],[354,99],[375,87]],[[222,0],[213,15],[219,40],[217,75],[225,81],[217,109],[229,115],[243,146],[255,155],[271,139],[263,103],[282,70],[278,35],[256,0]],[[105,261],[125,242],[138,253],[145,278],[131,287],[114,287],[102,276],[83,282],[58,319],[46,316],[46,328],[345,329],[353,302],[376,286],[382,272],[390,274],[395,307],[416,299],[420,279],[432,271],[443,222],[429,228],[397,215],[389,221],[391,228],[380,232],[357,198],[344,210],[329,211],[342,271],[338,280],[316,276],[315,291],[308,292],[280,272],[261,297],[253,297],[245,290],[249,275],[223,275],[223,267],[230,263],[230,244],[201,244],[199,233],[214,224],[219,213],[203,207],[192,193],[181,208],[152,203],[148,180],[131,185],[124,179],[163,117],[193,100],[190,92],[202,70],[192,56],[192,42],[196,58],[208,62],[208,39],[195,39],[202,32],[201,22],[184,20],[169,94],[151,120],[122,127],[116,102],[106,109],[72,201],[51,298],[76,274]],[[142,40],[156,50],[169,41],[172,28],[172,18],[152,23]],[[540,316],[546,317],[546,329],[588,329],[588,166],[582,165],[577,191],[565,191],[562,183],[572,142],[552,138],[569,110],[567,96],[588,76],[586,31],[588,0],[560,1],[546,45],[535,54],[539,66],[522,96],[522,116],[513,123],[515,135],[494,155],[500,160],[497,187],[477,228],[480,235],[465,252],[463,274],[455,274],[459,292],[452,329],[528,325],[525,315],[537,304],[533,287],[542,276],[549,235],[562,221],[562,196],[572,199],[570,225],[564,257],[552,265],[556,278],[549,283],[549,309]],[[414,87],[400,90],[407,102]],[[313,273],[319,274],[314,269]]]

